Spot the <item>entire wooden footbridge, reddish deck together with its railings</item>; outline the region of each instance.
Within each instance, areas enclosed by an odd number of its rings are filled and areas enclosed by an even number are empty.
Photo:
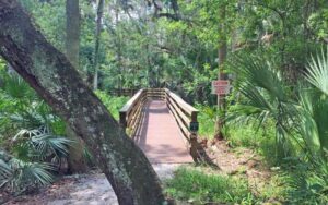
[[[192,162],[197,113],[168,89],[140,89],[120,110],[120,124],[151,162]]]

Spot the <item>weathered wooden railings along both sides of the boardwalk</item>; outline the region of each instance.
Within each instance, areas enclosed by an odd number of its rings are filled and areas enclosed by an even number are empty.
[[[198,132],[197,114],[198,110],[187,104],[175,93],[167,88],[140,89],[119,111],[119,122],[128,129],[133,136],[141,125],[142,108],[148,99],[165,100],[171,113],[174,116],[183,135],[185,143],[190,148],[190,141],[196,138]]]

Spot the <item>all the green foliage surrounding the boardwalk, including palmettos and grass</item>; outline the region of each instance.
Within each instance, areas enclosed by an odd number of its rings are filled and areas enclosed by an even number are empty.
[[[21,2],[66,52],[66,1]],[[80,0],[80,15],[79,72],[92,86],[97,1]],[[168,87],[200,110],[201,137],[213,138],[216,118],[224,118],[232,147],[250,147],[268,166],[281,167],[291,178],[286,202],[328,203],[326,0],[106,0],[102,17],[96,95],[115,119],[128,97],[109,97],[109,91]],[[224,43],[227,60],[220,69],[233,82],[225,111],[210,84]],[[0,73],[0,146],[10,154],[0,153],[0,188],[50,182],[72,143],[66,125],[1,59]],[[167,192],[201,203],[259,200],[245,184],[227,185],[234,182],[181,169]]]

